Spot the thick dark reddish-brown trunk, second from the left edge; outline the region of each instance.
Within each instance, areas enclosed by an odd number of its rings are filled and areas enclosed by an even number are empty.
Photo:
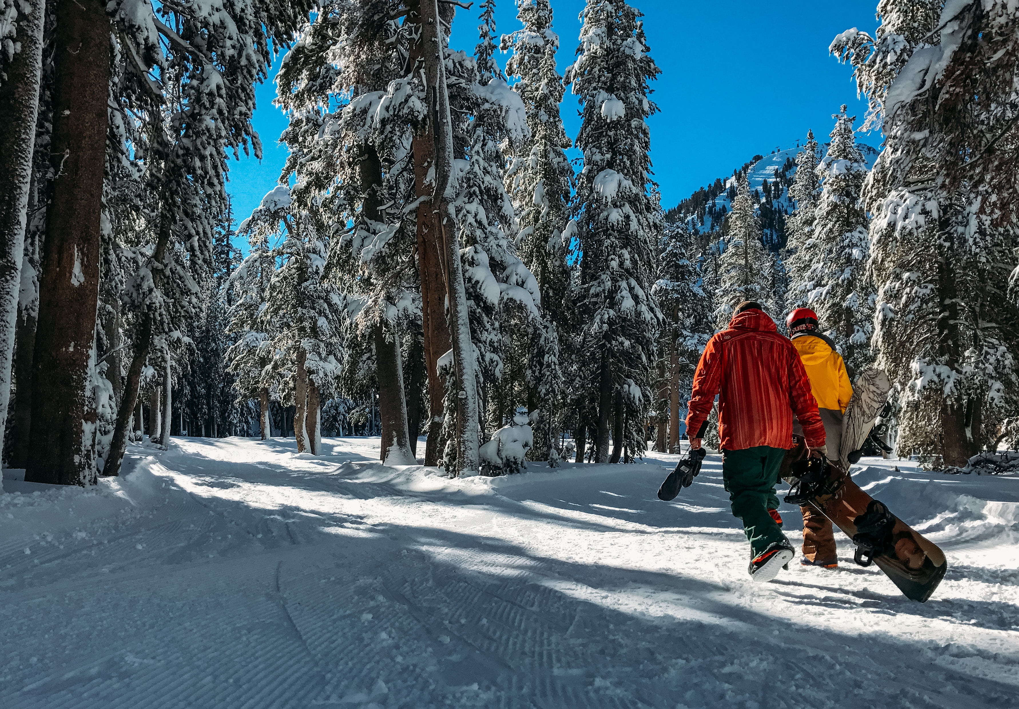
[[[96,477],[87,435],[96,412],[86,389],[99,301],[110,20],[100,0],[57,0],[54,11],[57,176],[46,218],[25,479],[87,485]]]

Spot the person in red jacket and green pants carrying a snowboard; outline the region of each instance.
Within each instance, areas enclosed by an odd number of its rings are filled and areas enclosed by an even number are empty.
[[[722,483],[750,542],[747,570],[755,581],[770,580],[794,556],[774,492],[793,440],[793,416],[802,421],[807,445],[817,449],[814,456],[822,455],[824,425],[799,354],[759,303],[738,305],[729,327],[704,348],[688,405],[691,449],[701,447],[715,396]]]

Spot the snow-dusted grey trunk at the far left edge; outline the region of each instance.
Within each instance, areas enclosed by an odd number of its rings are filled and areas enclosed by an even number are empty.
[[[28,8],[29,14],[23,10]],[[6,429],[14,357],[17,303],[32,190],[36,118],[43,65],[44,0],[20,3],[14,35],[20,50],[0,84],[0,436]],[[29,364],[31,365],[31,358]],[[31,369],[24,370],[28,383]],[[31,387],[26,386],[28,393]],[[31,401],[31,394],[29,396]]]

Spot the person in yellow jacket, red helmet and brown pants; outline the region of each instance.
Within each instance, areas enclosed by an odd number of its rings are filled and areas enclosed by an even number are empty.
[[[803,368],[810,379],[811,393],[817,400],[817,411],[824,423],[825,450],[827,458],[839,464],[839,449],[842,446],[842,418],[849,400],[853,397],[853,386],[846,372],[846,363],[836,349],[835,343],[817,327],[817,313],[810,308],[797,308],[786,318],[789,337],[793,347],[800,353]],[[798,423],[793,433],[802,436]],[[836,568],[839,557],[836,553],[835,531],[832,520],[811,506],[801,507],[803,513],[803,559],[805,566]]]

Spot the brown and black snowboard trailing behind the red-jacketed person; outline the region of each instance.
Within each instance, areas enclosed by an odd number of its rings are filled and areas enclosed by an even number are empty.
[[[790,485],[799,483],[796,472],[800,470],[794,466],[798,462],[802,465],[807,455],[806,443],[799,439],[783,461],[783,479]],[[816,507],[853,540],[856,563],[877,564],[908,599],[923,603],[930,598],[948,570],[945,553],[861,490],[839,466],[823,464],[822,469],[816,494],[802,504]],[[791,500],[787,498],[787,502]]]

